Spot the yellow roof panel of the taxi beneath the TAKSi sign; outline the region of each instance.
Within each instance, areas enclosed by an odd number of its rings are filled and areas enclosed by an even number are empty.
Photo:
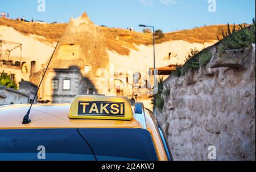
[[[131,121],[104,119],[69,119],[71,104],[33,105],[30,124],[22,124],[30,105],[7,105],[0,107],[0,129],[32,128],[142,128],[136,119]]]

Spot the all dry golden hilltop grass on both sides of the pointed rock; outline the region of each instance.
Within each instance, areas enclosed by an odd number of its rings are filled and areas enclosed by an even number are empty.
[[[0,25],[13,27],[16,31],[27,34],[43,36],[48,42],[59,40],[64,33],[67,24],[37,24],[26,23],[19,20],[0,18]],[[232,26],[230,26],[232,27]],[[236,25],[238,28],[238,25]],[[210,25],[205,27],[194,28],[191,30],[182,30],[177,32],[165,33],[163,38],[156,40],[156,43],[162,43],[171,40],[184,40],[187,42],[197,42],[203,44],[217,40],[217,36],[222,38],[222,30],[227,31],[226,25]],[[126,29],[101,27],[101,31],[106,38],[106,46],[109,50],[117,51],[122,55],[128,55],[130,49],[137,50],[136,45],[151,45],[152,35],[150,33],[131,32]],[[39,39],[43,41],[42,39]]]

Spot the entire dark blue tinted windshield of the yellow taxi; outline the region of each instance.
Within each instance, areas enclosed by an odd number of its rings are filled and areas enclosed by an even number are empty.
[[[140,128],[0,130],[0,135],[0,160],[38,160],[42,146],[46,161],[158,160],[150,132]]]

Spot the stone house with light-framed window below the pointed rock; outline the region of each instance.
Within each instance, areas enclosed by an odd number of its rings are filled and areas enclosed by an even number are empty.
[[[42,79],[44,70],[36,72],[35,83]],[[53,104],[71,103],[78,94],[97,94],[92,82],[82,76],[79,68],[49,69],[38,93],[38,101]]]

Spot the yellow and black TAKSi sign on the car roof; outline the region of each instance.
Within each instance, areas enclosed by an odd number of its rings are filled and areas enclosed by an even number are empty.
[[[71,119],[133,119],[127,97],[76,96],[69,109]]]

